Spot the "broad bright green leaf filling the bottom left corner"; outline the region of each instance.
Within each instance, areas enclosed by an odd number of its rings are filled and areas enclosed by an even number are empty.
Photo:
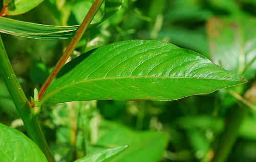
[[[47,161],[41,150],[16,129],[0,123],[0,137],[1,161]]]

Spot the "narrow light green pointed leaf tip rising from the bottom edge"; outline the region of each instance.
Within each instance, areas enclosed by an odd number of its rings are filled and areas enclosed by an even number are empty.
[[[128,148],[128,145],[115,147],[111,149],[105,149],[93,154],[90,154],[88,156],[85,156],[83,158],[80,158],[78,160],[75,160],[74,162],[107,162],[111,159],[118,156],[120,153],[125,151]]]

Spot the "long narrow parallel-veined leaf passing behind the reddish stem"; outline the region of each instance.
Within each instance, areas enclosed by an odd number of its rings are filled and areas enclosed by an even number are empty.
[[[101,22],[105,21],[110,16],[115,14],[115,12],[117,12],[120,9],[121,5],[122,0],[106,0],[103,18],[99,22],[90,25],[88,30],[90,30],[93,27],[96,27]],[[34,39],[72,38],[78,27],[78,25],[67,27],[48,26],[0,17],[0,32]]]

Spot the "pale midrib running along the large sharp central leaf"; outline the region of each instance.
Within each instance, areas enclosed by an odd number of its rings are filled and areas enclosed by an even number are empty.
[[[210,80],[220,80],[220,81],[235,81],[235,82],[245,82],[243,79],[241,81],[239,80],[227,80],[227,79],[216,79],[216,78],[194,78],[194,77],[163,77],[163,76],[124,76],[124,77],[102,77],[102,78],[94,78],[94,79],[85,79],[78,82],[71,82],[69,84],[66,84],[64,86],[61,86],[60,88],[55,88],[54,90],[50,91],[48,94],[44,95],[42,97],[41,102],[44,102],[49,96],[52,96],[55,94],[55,92],[60,91],[61,89],[65,89],[69,86],[73,86],[75,84],[84,83],[84,82],[92,82],[92,81],[100,81],[100,80],[115,80],[115,79],[140,79],[140,78],[161,78],[161,79],[210,79]],[[241,83],[243,83],[241,82]]]

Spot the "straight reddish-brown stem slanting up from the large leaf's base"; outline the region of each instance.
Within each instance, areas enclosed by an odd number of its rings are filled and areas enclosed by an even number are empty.
[[[64,53],[60,57],[59,61],[53,68],[53,71],[50,74],[50,76],[47,78],[45,83],[41,86],[40,90],[38,91],[38,100],[40,100],[42,95],[44,95],[44,92],[46,91],[46,89],[48,88],[48,86],[50,85],[52,80],[55,78],[55,76],[60,71],[61,67],[65,64],[65,62],[67,61],[69,56],[75,50],[76,44],[81,39],[84,32],[86,32],[86,29],[90,25],[91,21],[93,20],[93,17],[95,16],[96,12],[99,10],[99,8],[103,2],[104,2],[104,0],[95,0],[95,2],[93,3],[93,5],[90,8],[89,12],[87,13],[86,17],[84,17],[82,24],[80,25],[80,27],[76,31],[76,34],[74,35],[73,39],[69,43],[67,49],[64,51]]]

